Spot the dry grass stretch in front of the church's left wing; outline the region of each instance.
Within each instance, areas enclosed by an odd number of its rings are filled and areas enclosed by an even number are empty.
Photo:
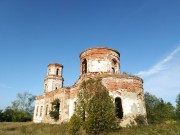
[[[2,122],[0,123],[0,135],[66,135],[66,124]]]

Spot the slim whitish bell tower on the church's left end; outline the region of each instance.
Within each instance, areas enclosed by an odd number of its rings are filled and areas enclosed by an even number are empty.
[[[51,63],[47,68],[47,76],[44,79],[44,93],[57,90],[63,87],[62,77],[63,65]]]

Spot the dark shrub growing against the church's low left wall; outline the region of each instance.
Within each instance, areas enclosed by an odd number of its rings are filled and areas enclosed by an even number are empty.
[[[60,101],[59,99],[55,99],[53,102],[51,102],[52,104],[52,109],[49,112],[51,118],[53,118],[54,120],[58,120],[59,119],[59,108],[60,108]]]

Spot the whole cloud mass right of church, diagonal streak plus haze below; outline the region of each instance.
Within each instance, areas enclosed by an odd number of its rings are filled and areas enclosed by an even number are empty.
[[[144,90],[175,106],[180,93],[180,46],[147,71],[137,73],[144,80]]]

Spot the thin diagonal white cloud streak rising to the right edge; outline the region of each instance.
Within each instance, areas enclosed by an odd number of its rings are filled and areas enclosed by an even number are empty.
[[[170,55],[168,55],[165,59],[163,59],[162,61],[160,61],[159,63],[157,63],[156,65],[154,65],[150,69],[148,69],[147,71],[140,71],[136,75],[144,78],[144,77],[151,76],[155,73],[158,73],[160,71],[167,69],[166,64],[170,60],[172,60],[178,52],[180,52],[180,46],[177,47],[173,52],[171,52]]]

